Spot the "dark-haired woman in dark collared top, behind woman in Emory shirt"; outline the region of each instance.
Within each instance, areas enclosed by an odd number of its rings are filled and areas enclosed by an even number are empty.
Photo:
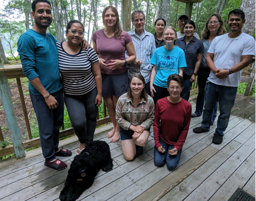
[[[159,48],[165,45],[165,41],[163,38],[165,26],[166,26],[166,21],[163,18],[156,19],[155,21],[156,32],[154,34],[156,48]]]

